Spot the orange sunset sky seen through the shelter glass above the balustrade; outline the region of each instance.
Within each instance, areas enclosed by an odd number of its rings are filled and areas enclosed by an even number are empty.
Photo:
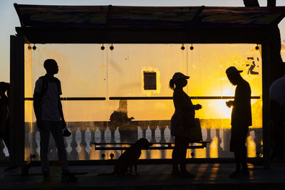
[[[66,48],[68,46],[68,48]],[[26,97],[33,94],[34,83],[44,75],[42,63],[46,58],[58,61],[58,78],[62,82],[63,97],[106,97],[105,101],[63,101],[66,120],[108,120],[113,110],[118,109],[118,100],[113,96],[172,96],[168,88],[173,73],[179,71],[190,75],[185,92],[190,96],[233,96],[234,86],[227,80],[224,71],[230,65],[244,70],[242,76],[252,87],[252,95],[261,95],[261,59],[255,44],[194,45],[185,51],[180,44],[116,44],[105,51],[98,44],[38,45],[36,51],[25,48]],[[80,51],[85,49],[86,51]],[[260,75],[247,75],[247,59],[253,57]],[[259,58],[259,61],[257,61]],[[157,73],[157,90],[144,90],[142,73],[145,70]],[[229,118],[231,109],[226,100],[193,100],[203,106],[197,117],[203,119]],[[252,104],[257,100],[252,100]],[[31,102],[26,102],[26,121],[32,117]],[[261,100],[253,106],[260,112]],[[135,120],[170,120],[174,112],[172,100],[129,100],[128,115]],[[257,115],[260,115],[258,113]],[[255,117],[255,116],[254,116]],[[261,120],[261,118],[259,118]]]

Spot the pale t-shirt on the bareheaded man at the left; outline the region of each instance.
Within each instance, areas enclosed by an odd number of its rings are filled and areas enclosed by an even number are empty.
[[[41,98],[41,120],[47,121],[60,121],[61,115],[58,111],[58,95],[61,95],[61,83],[59,83],[59,88],[54,81],[48,81],[46,93]],[[36,80],[35,93],[41,94],[43,87],[43,80],[39,78]],[[59,90],[59,92],[58,92]]]

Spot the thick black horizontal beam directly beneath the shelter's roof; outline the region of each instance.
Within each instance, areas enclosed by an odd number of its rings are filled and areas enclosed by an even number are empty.
[[[264,28],[32,28],[16,27],[26,43],[262,43]]]

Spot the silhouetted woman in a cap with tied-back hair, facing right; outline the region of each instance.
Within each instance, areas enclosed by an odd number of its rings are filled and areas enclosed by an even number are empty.
[[[172,176],[195,177],[186,169],[186,154],[190,143],[189,129],[195,125],[195,110],[201,109],[202,105],[193,105],[191,98],[183,91],[188,78],[190,77],[182,73],[175,73],[170,80],[175,106],[175,113],[171,117],[171,135],[175,136],[175,148],[172,152]],[[180,171],[178,165],[180,165]]]

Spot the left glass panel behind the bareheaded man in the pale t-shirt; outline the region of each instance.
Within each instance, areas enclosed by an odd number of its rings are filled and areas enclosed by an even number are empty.
[[[68,48],[67,48],[68,47]],[[33,97],[36,80],[45,75],[44,60],[53,58],[57,61],[59,72],[56,78],[61,80],[63,95],[61,97],[106,97],[107,95],[107,51],[100,50],[98,44],[39,44],[36,50],[28,50],[25,46],[25,97]],[[84,51],[83,51],[84,50]],[[88,122],[108,120],[107,104],[104,101],[62,101],[63,113],[67,122]],[[98,109],[100,107],[100,109]],[[35,127],[36,118],[31,100],[25,101],[26,121],[26,157],[30,154],[39,156],[39,132]],[[69,125],[69,124],[68,124]],[[81,124],[82,125],[82,124]],[[71,125],[71,126],[81,126]],[[83,125],[85,126],[85,125]],[[78,128],[74,128],[78,130]],[[83,127],[83,131],[84,131]],[[73,130],[73,128],[71,128]],[[77,131],[73,132],[77,132]],[[80,131],[80,130],[78,130]],[[79,152],[81,133],[76,134],[76,141],[68,144],[66,149],[76,149]],[[80,134],[80,135],[79,135]],[[71,137],[66,138],[66,142]],[[86,143],[83,143],[86,144]],[[51,138],[50,159],[57,159],[56,146]],[[69,152],[70,154],[70,152]],[[71,154],[69,159],[86,159],[86,156]],[[77,155],[77,156],[76,156]],[[39,157],[37,157],[39,159]]]

